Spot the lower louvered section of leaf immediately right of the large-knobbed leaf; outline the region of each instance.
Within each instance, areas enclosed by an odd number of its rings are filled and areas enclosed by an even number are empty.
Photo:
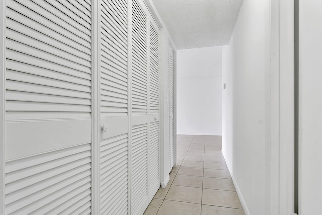
[[[147,125],[132,128],[132,214],[147,199]]]

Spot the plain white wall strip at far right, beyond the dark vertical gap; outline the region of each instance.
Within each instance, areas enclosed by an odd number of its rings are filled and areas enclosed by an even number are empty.
[[[321,214],[322,2],[299,6],[299,213]]]

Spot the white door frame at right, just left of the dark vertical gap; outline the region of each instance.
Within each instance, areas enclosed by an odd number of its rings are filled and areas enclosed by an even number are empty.
[[[270,0],[270,214],[294,209],[294,1]]]

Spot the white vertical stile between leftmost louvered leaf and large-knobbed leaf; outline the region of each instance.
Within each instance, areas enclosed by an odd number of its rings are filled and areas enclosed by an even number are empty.
[[[100,22],[98,1],[92,3],[92,214],[100,214]]]

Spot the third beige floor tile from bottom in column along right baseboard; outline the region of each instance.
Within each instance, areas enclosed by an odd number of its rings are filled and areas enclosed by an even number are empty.
[[[236,191],[231,179],[203,177],[203,188]]]

